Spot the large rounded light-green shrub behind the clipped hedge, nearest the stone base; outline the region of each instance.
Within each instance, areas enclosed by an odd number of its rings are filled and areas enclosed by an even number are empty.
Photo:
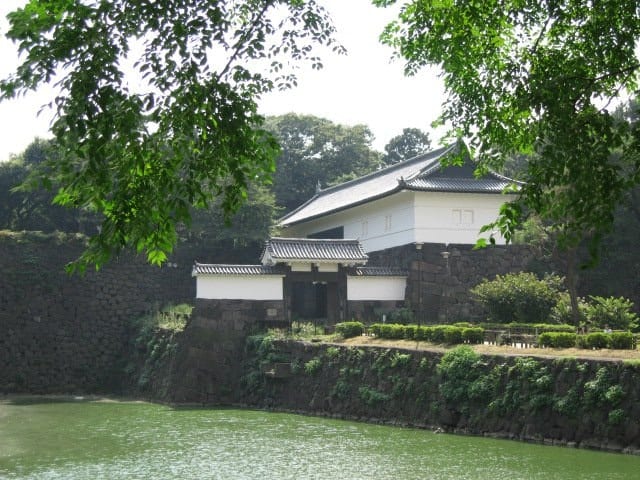
[[[497,323],[546,321],[558,302],[562,279],[548,276],[539,280],[533,273],[497,275],[471,289],[479,302]]]

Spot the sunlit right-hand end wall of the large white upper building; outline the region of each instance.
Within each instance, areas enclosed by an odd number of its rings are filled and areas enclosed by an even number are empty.
[[[493,222],[508,195],[415,192],[415,240],[424,243],[475,244],[482,226]],[[488,236],[488,232],[482,234]],[[496,243],[504,239],[496,235]]]

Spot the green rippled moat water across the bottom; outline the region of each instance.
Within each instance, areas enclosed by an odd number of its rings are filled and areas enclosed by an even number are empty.
[[[640,457],[299,415],[0,401],[2,479],[637,479]]]

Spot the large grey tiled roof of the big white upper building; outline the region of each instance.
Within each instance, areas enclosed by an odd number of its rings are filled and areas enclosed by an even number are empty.
[[[309,201],[282,217],[279,223],[282,226],[295,225],[402,190],[500,193],[507,186],[518,183],[494,172],[476,178],[475,165],[468,155],[464,165],[443,168],[441,160],[444,157],[466,148],[460,145],[458,142],[433,150],[364,177],[320,190]]]

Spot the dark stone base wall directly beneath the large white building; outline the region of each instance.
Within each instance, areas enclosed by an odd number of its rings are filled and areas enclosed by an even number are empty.
[[[527,269],[534,252],[527,246],[495,246],[474,250],[471,245],[425,243],[369,254],[370,266],[409,271],[406,306],[420,323],[477,320],[481,310],[469,289],[484,278]]]

